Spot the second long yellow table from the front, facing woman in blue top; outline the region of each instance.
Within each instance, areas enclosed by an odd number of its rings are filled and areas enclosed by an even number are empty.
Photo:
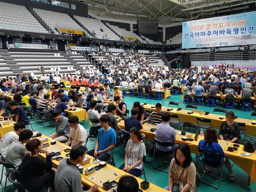
[[[118,119],[120,120],[120,119]],[[121,120],[118,122],[118,125],[121,128],[124,128],[124,121]],[[156,128],[156,125],[153,124],[143,124],[142,129],[140,130],[140,133],[144,133],[146,135],[146,139],[150,140],[151,142],[154,142],[154,138],[156,137],[156,132],[150,132],[150,128]],[[200,140],[204,139],[199,136],[197,141],[182,141],[182,136],[178,134],[178,130],[176,130],[176,144],[188,144],[190,147],[190,150],[194,154],[198,154],[198,143]],[[186,133],[187,136],[188,133]],[[193,134],[193,139],[195,138],[195,135]],[[219,140],[219,143],[221,144],[223,142],[222,140]],[[233,145],[233,143],[225,142],[225,144]],[[224,153],[228,158],[230,158],[235,164],[237,164],[242,170],[244,170],[251,178],[251,182],[256,182],[256,153],[254,152],[252,156],[244,157],[241,155],[241,153],[244,153],[243,145],[239,145],[238,150],[234,152],[229,152],[224,149]]]

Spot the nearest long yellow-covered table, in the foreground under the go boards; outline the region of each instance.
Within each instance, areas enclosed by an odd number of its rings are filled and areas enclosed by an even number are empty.
[[[47,136],[45,136],[45,135],[42,135],[42,137],[44,137],[44,138],[48,138],[48,140],[50,141],[50,140],[53,140],[52,138],[49,138],[49,137],[47,137]],[[65,145],[65,144],[62,144],[62,143],[60,143],[60,142],[56,142],[57,144],[60,144],[60,145],[62,145],[63,147],[64,147],[64,149],[66,149],[66,148],[71,148],[70,146],[67,146],[67,145]],[[46,147],[47,148],[47,147]],[[63,158],[66,158],[66,154],[68,154],[69,152],[64,152],[64,150],[62,150],[62,151],[60,151],[60,156],[61,157],[63,157]],[[39,154],[40,155],[40,157],[42,157],[44,160],[46,160],[46,155],[45,154],[43,154],[43,153],[40,153]],[[84,166],[84,169],[85,168],[87,168],[87,167],[89,167],[89,166],[96,166],[96,165],[98,165],[98,164],[92,164],[92,160],[93,160],[93,157],[92,156],[89,156],[89,155],[87,155],[86,154],[86,156],[87,157],[89,157],[89,158],[91,158],[90,159],[90,163],[89,164],[86,164],[85,166]],[[57,161],[57,160],[52,160],[52,164],[53,164],[53,167],[54,168],[58,168],[58,165],[60,164],[60,162],[59,161]],[[114,166],[111,166],[111,165],[109,165],[109,164],[107,164],[107,166],[106,166],[107,168],[110,168],[110,169],[112,169],[112,170],[114,170],[115,172],[117,172],[118,174],[120,174],[120,175],[130,175],[130,174],[128,174],[127,172],[124,172],[124,171],[122,171],[122,170],[120,170],[120,169],[118,169],[118,168],[116,168],[116,167],[114,167]],[[86,185],[86,186],[88,186],[88,187],[91,187],[92,185],[94,185],[94,183],[93,182],[91,182],[90,180],[87,180],[86,178],[85,178],[85,174],[83,173],[83,174],[81,174],[81,178],[82,178],[82,184],[84,184],[84,185]],[[105,177],[108,177],[107,175],[105,175]],[[143,181],[142,179],[140,179],[140,178],[137,178],[137,177],[135,177],[136,178],[136,180],[138,181],[138,183],[139,183],[139,185],[140,185],[140,183]],[[116,182],[118,182],[118,180],[119,180],[119,178],[117,178],[115,181]],[[141,189],[141,188],[140,188]],[[143,190],[143,192],[167,192],[167,190],[164,190],[163,188],[160,188],[160,187],[158,187],[158,186],[156,186],[156,185],[154,185],[154,184],[152,184],[152,183],[150,183],[150,187],[147,189],[147,190]],[[106,190],[104,190],[103,188],[101,188],[101,187],[99,187],[99,189],[98,189],[98,192],[106,192]]]

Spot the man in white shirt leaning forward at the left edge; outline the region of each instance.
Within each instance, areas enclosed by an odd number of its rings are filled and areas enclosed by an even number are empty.
[[[14,131],[10,131],[10,132],[6,133],[1,138],[0,153],[2,154],[2,156],[4,156],[4,158],[6,156],[6,152],[7,152],[8,147],[10,146],[10,144],[13,141],[16,141],[19,139],[20,132],[24,129],[26,129],[26,124],[24,122],[19,121],[14,125]]]

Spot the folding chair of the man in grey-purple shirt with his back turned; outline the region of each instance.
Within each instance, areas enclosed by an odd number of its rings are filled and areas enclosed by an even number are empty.
[[[173,156],[174,155],[174,151],[164,152],[164,151],[158,150],[156,148],[156,144],[158,144],[160,146],[164,146],[164,147],[169,147],[169,146],[173,145],[172,141],[161,141],[161,140],[158,140],[158,139],[154,138],[153,168],[168,173],[168,171],[154,166],[155,154],[157,152],[158,154],[164,154],[164,155],[168,155],[168,156]],[[166,161],[162,161],[162,162],[166,163],[166,164],[170,164],[170,162],[166,162]]]

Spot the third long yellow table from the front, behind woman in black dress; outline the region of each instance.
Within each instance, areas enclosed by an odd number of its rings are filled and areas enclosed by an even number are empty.
[[[146,109],[146,110],[155,110],[155,108],[151,108],[152,106],[154,105],[150,105],[150,104],[146,104],[144,105],[143,107]],[[215,129],[219,129],[220,128],[220,124],[225,121],[225,116],[224,115],[217,115],[217,114],[208,114],[208,115],[200,115],[198,113],[193,113],[193,114],[188,114],[188,111],[191,111],[191,110],[180,110],[180,111],[177,111],[177,109],[173,108],[173,110],[171,111],[167,111],[167,109],[170,109],[171,107],[165,107],[165,106],[162,106],[162,111],[164,112],[167,112],[167,113],[170,113],[170,114],[176,114],[179,116],[179,119],[182,121],[182,122],[192,122],[192,123],[197,123],[197,120],[196,120],[196,117],[202,117],[202,118],[207,118],[207,119],[210,119],[211,122],[212,122],[212,126],[215,128]],[[220,119],[220,116],[224,116],[224,119],[221,120]],[[246,124],[246,135],[248,136],[253,136],[253,137],[256,137],[256,125],[253,125],[252,124],[252,121],[253,120],[250,120],[250,119],[243,119],[243,118],[237,118],[235,119],[236,122],[244,122]]]

